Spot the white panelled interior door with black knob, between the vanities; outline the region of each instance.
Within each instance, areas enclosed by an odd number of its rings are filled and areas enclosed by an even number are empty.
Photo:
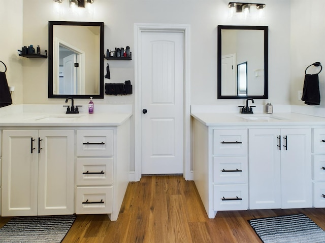
[[[182,32],[141,33],[142,174],[183,173],[183,69]]]

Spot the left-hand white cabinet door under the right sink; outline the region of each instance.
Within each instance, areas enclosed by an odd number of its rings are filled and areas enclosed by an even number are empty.
[[[281,208],[279,136],[279,129],[249,129],[249,209]]]

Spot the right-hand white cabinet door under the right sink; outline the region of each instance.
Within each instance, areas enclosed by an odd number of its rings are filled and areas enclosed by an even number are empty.
[[[311,129],[282,129],[281,137],[282,208],[310,208]]]

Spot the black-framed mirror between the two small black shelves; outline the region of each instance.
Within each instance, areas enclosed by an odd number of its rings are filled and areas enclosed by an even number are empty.
[[[49,98],[104,98],[104,23],[49,21]]]

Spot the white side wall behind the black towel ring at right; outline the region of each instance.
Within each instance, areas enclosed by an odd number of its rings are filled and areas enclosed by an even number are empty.
[[[290,102],[305,105],[298,100],[298,91],[303,89],[305,69],[314,62],[320,62],[323,70],[319,76],[320,105],[325,108],[325,1],[291,0],[291,89]],[[315,73],[319,68],[310,67],[309,73]],[[311,106],[309,106],[311,108]],[[325,115],[325,114],[324,114]]]

